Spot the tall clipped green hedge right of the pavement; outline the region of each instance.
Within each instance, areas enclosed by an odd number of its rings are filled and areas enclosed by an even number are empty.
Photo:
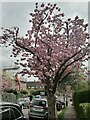
[[[79,91],[73,94],[73,105],[80,120],[89,120],[90,116],[90,90]]]

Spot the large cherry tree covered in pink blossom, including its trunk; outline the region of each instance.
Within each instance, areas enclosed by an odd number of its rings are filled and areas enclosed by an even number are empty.
[[[61,8],[50,3],[36,3],[30,16],[30,30],[25,37],[20,37],[18,27],[2,28],[0,43],[12,45],[14,57],[21,55],[21,60],[15,62],[23,66],[21,74],[33,75],[46,84],[48,118],[55,118],[58,82],[89,57],[88,24],[78,16],[65,19]]]

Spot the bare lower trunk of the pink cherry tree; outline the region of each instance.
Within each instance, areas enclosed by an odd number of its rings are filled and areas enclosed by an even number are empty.
[[[47,94],[48,100],[48,120],[56,118],[55,96],[52,93]]]

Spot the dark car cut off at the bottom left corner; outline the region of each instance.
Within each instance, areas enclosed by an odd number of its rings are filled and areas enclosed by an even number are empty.
[[[0,102],[0,120],[26,120],[20,106],[10,102]]]

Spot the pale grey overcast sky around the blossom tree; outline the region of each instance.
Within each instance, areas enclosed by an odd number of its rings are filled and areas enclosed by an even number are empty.
[[[33,12],[35,2],[53,2],[61,7],[61,11],[65,13],[65,17],[74,17],[76,15],[84,18],[85,22],[89,19],[88,0],[1,0],[0,2],[0,26],[11,28],[18,26],[20,28],[21,36],[23,36],[29,29],[29,13]],[[89,4],[90,5],[90,4]],[[1,32],[0,32],[1,35]],[[0,68],[14,66],[14,59],[10,58],[11,48],[0,48]]]

